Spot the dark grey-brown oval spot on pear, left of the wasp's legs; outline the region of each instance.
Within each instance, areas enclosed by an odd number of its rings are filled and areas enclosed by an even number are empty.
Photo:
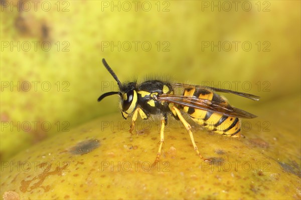
[[[99,140],[89,139],[89,140],[77,143],[75,146],[73,146],[69,150],[69,152],[72,153],[72,154],[82,155],[82,154],[91,152],[92,150],[94,150],[98,146],[100,146]]]

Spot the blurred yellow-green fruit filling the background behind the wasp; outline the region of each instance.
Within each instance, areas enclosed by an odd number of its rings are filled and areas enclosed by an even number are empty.
[[[118,89],[102,58],[121,81],[157,74],[261,96],[225,95],[242,108],[297,98],[300,113],[300,1],[0,3],[1,160],[119,111],[117,96],[97,102]]]

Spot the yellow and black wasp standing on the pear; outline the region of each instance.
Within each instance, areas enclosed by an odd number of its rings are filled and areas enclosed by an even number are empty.
[[[164,143],[164,128],[168,123],[169,115],[183,123],[189,132],[197,155],[205,161],[210,161],[210,159],[204,158],[198,150],[191,125],[184,115],[188,115],[193,121],[208,130],[236,138],[240,138],[240,118],[256,117],[254,114],[231,106],[225,97],[216,92],[232,93],[253,100],[259,100],[259,96],[210,86],[172,83],[162,80],[121,83],[104,58],[102,63],[117,81],[119,91],[106,92],[99,96],[98,101],[106,96],[118,94],[121,99],[120,107],[123,118],[131,117],[130,133],[135,127],[138,114],[142,119],[148,119],[152,115],[160,116],[160,141],[154,165],[160,159]],[[176,90],[179,88],[182,89],[182,94],[176,94]]]

